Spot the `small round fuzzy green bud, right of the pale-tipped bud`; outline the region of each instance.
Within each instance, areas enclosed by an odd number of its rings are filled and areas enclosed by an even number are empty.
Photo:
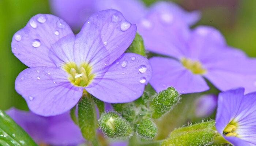
[[[150,118],[140,119],[135,127],[137,133],[143,138],[154,138],[157,135],[157,126]]]

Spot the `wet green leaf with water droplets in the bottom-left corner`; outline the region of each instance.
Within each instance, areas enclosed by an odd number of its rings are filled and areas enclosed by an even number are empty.
[[[1,146],[37,146],[32,138],[0,110],[0,145]]]

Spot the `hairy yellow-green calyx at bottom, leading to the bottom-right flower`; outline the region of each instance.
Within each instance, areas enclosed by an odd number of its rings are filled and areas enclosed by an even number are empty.
[[[217,136],[215,120],[173,130],[162,146],[205,146]]]

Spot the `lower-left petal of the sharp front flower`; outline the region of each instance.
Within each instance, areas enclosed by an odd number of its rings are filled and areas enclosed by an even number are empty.
[[[15,89],[35,114],[59,115],[74,107],[83,92],[67,77],[68,73],[59,68],[27,68],[16,78]]]

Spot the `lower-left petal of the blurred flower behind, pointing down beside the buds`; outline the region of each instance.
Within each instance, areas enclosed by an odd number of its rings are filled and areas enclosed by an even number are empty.
[[[206,81],[200,75],[192,74],[180,62],[163,57],[150,58],[153,76],[150,84],[160,92],[167,87],[174,87],[179,93],[195,93],[209,89]]]

